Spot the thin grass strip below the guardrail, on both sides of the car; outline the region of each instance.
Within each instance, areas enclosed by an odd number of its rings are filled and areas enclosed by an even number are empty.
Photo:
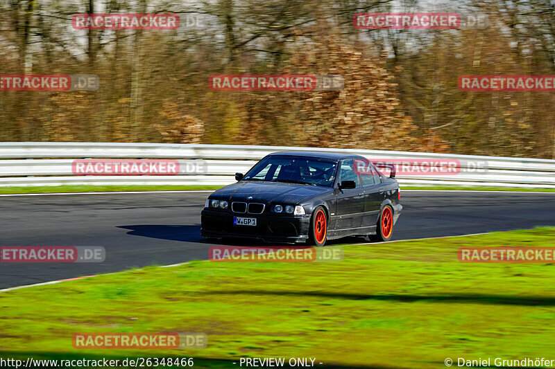
[[[64,192],[121,192],[121,191],[181,191],[217,190],[223,186],[33,186],[0,187],[2,194],[19,193],[64,193]],[[505,188],[505,187],[463,187],[463,186],[401,186],[401,190],[474,190],[474,191],[516,191],[516,192],[555,192],[553,188]]]

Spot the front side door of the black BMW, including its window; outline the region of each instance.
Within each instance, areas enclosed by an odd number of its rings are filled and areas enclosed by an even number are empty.
[[[340,163],[338,184],[343,181],[355,181],[357,187],[336,189],[335,229],[340,233],[356,233],[356,228],[360,228],[362,224],[364,190],[361,188],[359,176],[354,170],[353,159],[346,159]]]

